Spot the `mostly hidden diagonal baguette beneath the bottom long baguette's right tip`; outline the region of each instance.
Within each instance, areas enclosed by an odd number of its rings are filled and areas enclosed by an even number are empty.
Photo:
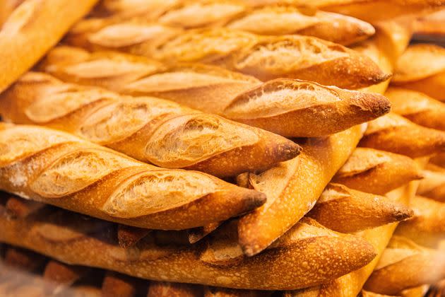
[[[410,197],[413,197],[417,189],[417,181],[410,182],[408,186],[398,188],[386,194],[389,199],[393,199],[396,202],[408,203]],[[372,260],[365,267],[362,267],[355,272],[341,276],[338,279],[330,281],[321,286],[316,286],[308,289],[302,289],[297,291],[288,291],[287,297],[299,296],[299,297],[324,297],[324,296],[356,296],[362,290],[364,282],[368,279],[369,275],[373,272],[381,253],[386,248],[388,241],[393,235],[393,231],[396,228],[397,223],[391,223],[385,226],[380,226],[373,229],[368,229],[358,233],[362,238],[371,243],[377,251],[377,257]]]

